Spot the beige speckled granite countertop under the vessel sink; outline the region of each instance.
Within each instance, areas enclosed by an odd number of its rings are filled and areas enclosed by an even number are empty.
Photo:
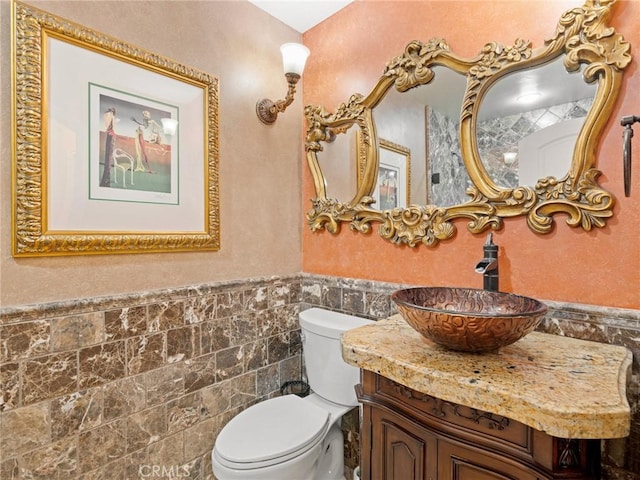
[[[345,332],[342,356],[418,392],[556,437],[629,434],[632,356],[624,347],[532,332],[495,353],[454,352],[395,315]]]

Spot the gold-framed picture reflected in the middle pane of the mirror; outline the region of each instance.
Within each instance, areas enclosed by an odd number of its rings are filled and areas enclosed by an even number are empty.
[[[389,142],[379,141],[380,165],[373,192],[379,210],[406,208],[411,203],[411,151]]]

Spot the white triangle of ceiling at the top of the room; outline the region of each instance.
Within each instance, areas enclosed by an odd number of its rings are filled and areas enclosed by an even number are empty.
[[[304,33],[353,0],[249,0],[271,16]]]

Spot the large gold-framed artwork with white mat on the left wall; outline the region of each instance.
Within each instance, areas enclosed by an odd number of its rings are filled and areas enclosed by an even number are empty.
[[[13,255],[218,250],[217,77],[12,8]]]

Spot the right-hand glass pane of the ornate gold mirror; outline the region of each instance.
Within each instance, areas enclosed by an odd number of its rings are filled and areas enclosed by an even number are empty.
[[[497,185],[534,187],[569,171],[597,87],[582,71],[567,72],[563,60],[517,71],[488,89],[476,131],[480,158]]]

